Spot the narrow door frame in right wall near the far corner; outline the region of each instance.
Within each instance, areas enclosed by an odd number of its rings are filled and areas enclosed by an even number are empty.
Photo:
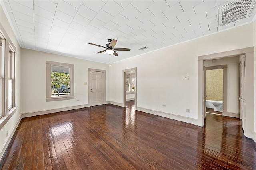
[[[137,110],[137,67],[123,70],[123,103],[126,107],[126,72],[134,71],[135,76],[135,96],[134,96],[134,108]]]

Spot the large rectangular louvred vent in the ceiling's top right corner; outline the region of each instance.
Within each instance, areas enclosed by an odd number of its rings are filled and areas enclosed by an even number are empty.
[[[250,15],[254,0],[236,0],[218,9],[219,26],[224,26]]]

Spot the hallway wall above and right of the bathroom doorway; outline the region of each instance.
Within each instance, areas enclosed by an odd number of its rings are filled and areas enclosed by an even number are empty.
[[[228,65],[228,108],[227,111],[231,113],[240,113],[239,107],[239,58],[227,57],[222,59],[215,59],[204,61],[205,67],[216,65]]]

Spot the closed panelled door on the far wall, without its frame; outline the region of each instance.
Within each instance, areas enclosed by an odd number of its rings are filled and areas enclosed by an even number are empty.
[[[104,104],[104,73],[90,71],[90,105]]]

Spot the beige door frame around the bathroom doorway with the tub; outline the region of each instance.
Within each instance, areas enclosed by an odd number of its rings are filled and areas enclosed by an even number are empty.
[[[204,69],[204,76],[206,75],[206,70],[216,70],[216,69],[222,69],[222,75],[223,75],[223,112],[222,116],[228,116],[228,65],[216,65],[216,66],[209,66],[205,67]],[[204,86],[206,85],[206,78],[204,77]],[[204,94],[206,95],[206,89],[204,88]],[[206,97],[204,97],[204,104],[206,102]],[[204,106],[205,107],[205,106]],[[204,118],[205,118],[205,109],[204,109]],[[205,122],[204,122],[205,123]],[[205,125],[205,124],[204,124]]]

